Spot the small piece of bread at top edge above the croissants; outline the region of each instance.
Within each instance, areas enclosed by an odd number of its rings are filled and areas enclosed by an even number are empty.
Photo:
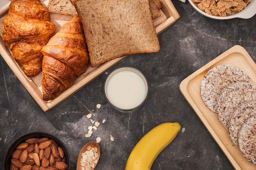
[[[70,0],[49,0],[48,11],[65,15],[77,15],[76,9]]]

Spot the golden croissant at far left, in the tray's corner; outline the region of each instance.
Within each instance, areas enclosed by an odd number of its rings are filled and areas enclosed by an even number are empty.
[[[29,77],[42,71],[41,49],[55,32],[50,21],[50,13],[40,0],[11,0],[2,24],[2,37]]]

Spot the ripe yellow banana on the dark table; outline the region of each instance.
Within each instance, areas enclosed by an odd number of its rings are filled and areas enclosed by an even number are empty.
[[[151,129],[135,145],[125,170],[150,170],[157,155],[170,144],[180,131],[178,122],[166,122]]]

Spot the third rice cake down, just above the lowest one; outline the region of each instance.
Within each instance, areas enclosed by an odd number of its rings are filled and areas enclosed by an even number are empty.
[[[229,117],[229,137],[237,145],[238,132],[243,123],[250,117],[256,116],[256,101],[245,102],[236,107]]]

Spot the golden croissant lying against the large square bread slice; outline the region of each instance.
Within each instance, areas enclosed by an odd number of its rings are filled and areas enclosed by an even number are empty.
[[[83,74],[89,62],[80,18],[66,22],[43,47],[43,100],[53,100]]]

